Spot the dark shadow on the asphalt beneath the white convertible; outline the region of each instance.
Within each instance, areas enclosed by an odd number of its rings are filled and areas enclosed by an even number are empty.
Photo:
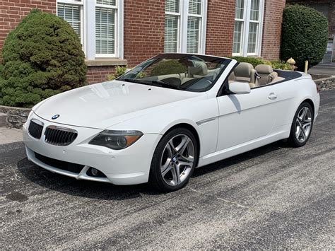
[[[238,156],[206,165],[202,168],[197,168],[194,171],[192,178],[194,179],[201,175],[206,175],[206,173],[212,173],[217,170],[229,168],[231,165],[235,165],[252,158],[257,158],[271,151],[279,150],[282,148],[282,146],[282,142],[276,142],[274,144],[257,148],[256,150],[249,151],[247,153],[242,153]],[[103,200],[125,200],[141,197],[141,194],[162,194],[148,184],[117,186],[102,182],[76,180],[72,177],[51,173],[43,168],[38,167],[34,163],[31,163],[27,158],[20,160],[17,163],[17,168],[27,180],[35,183],[35,185],[76,197]]]

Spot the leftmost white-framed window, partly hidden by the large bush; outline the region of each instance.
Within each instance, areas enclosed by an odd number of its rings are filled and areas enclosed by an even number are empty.
[[[57,0],[57,16],[81,38],[87,59],[123,58],[124,0]]]

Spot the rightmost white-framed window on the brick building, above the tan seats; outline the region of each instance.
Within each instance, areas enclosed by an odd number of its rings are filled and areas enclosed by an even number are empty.
[[[259,56],[264,0],[236,0],[233,55]]]

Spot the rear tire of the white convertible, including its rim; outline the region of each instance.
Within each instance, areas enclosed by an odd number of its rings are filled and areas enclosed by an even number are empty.
[[[288,143],[293,147],[305,146],[312,133],[314,122],[313,108],[309,103],[302,103],[295,112],[290,128]]]

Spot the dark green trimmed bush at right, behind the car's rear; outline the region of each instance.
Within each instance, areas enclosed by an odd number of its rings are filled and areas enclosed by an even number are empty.
[[[283,11],[281,59],[293,57],[301,71],[305,60],[309,66],[319,64],[328,42],[327,18],[313,8],[288,5]]]

